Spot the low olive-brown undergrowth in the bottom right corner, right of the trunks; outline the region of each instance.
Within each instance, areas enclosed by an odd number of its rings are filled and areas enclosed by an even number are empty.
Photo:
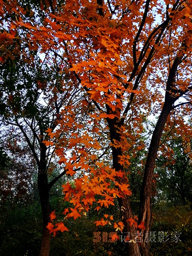
[[[156,209],[152,231],[169,234],[167,242],[152,242],[153,256],[190,256],[192,253],[192,211],[188,207],[171,207],[166,210]],[[171,233],[180,233],[180,241],[170,240]]]

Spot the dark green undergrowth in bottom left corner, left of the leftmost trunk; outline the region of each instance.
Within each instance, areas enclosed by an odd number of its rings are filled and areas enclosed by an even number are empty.
[[[38,255],[41,245],[41,208],[38,204],[0,207],[0,255]]]

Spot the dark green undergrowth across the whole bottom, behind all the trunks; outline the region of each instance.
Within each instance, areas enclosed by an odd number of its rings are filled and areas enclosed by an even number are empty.
[[[57,190],[57,188],[55,188]],[[54,191],[53,191],[54,192]],[[52,209],[67,207],[62,198],[51,193]],[[64,205],[63,205],[64,204]],[[105,209],[111,214],[111,209]],[[114,211],[114,207],[113,207]],[[181,233],[180,240],[175,242],[151,243],[153,256],[189,256],[192,244],[192,211],[188,207],[171,207],[162,210],[161,205],[154,209],[152,231]],[[118,208],[116,213],[118,215]],[[41,246],[41,207],[37,201],[25,204],[7,202],[0,207],[0,255],[3,256],[35,256]],[[59,213],[62,218],[62,212]],[[93,242],[93,232],[114,232],[112,226],[96,227],[96,215],[90,214],[82,218],[65,220],[69,232],[59,232],[52,237],[50,256],[125,256],[126,244],[120,240],[111,242]],[[121,233],[119,233],[121,235]],[[110,254],[111,253],[111,254]]]

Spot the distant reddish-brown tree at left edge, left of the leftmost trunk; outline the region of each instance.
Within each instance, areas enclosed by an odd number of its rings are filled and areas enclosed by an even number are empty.
[[[3,144],[3,145],[2,145]],[[8,146],[9,150],[5,150]],[[11,151],[11,153],[10,153]],[[35,164],[32,162],[30,152],[16,146],[15,143],[6,145],[6,141],[0,147],[0,206],[6,201],[25,203],[33,199],[33,175]],[[25,155],[26,158],[21,156]]]

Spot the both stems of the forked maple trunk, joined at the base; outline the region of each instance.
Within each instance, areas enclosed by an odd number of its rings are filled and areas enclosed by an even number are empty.
[[[169,116],[169,113],[172,111],[172,107],[174,102],[179,98],[176,96],[179,91],[175,87],[175,76],[177,72],[177,67],[182,62],[183,53],[177,56],[172,64],[172,67],[169,71],[169,76],[166,85],[166,95],[165,102],[163,105],[163,109],[160,113],[159,119],[155,126],[151,143],[148,149],[148,156],[145,164],[145,171],[142,183],[142,189],[140,193],[140,211],[139,211],[139,222],[143,222],[145,226],[145,230],[141,234],[140,243],[128,243],[128,255],[129,256],[148,256],[149,255],[149,241],[148,235],[151,230],[151,220],[152,220],[152,212],[151,212],[151,186],[153,180],[153,173],[155,167],[155,160],[157,158],[157,151],[160,143],[160,139]],[[183,95],[184,92],[181,92],[180,96]],[[107,106],[107,112],[110,113],[110,108]],[[119,110],[120,112],[120,110]],[[118,113],[116,113],[118,116]],[[120,117],[120,116],[119,116]],[[114,141],[119,142],[121,145],[120,134],[118,133],[118,118],[107,119],[111,142]],[[121,124],[123,125],[123,124]],[[123,166],[119,164],[119,157],[122,156],[121,147],[119,148],[112,147],[112,155],[113,155],[113,168],[118,172],[123,172]],[[123,182],[123,178],[116,178],[120,183]],[[118,198],[119,208],[121,210],[122,221],[125,225],[125,232],[130,232],[131,234],[136,233],[136,228],[134,225],[130,226],[127,219],[133,218],[129,197],[125,196],[125,198]],[[123,211],[122,211],[123,209]]]

